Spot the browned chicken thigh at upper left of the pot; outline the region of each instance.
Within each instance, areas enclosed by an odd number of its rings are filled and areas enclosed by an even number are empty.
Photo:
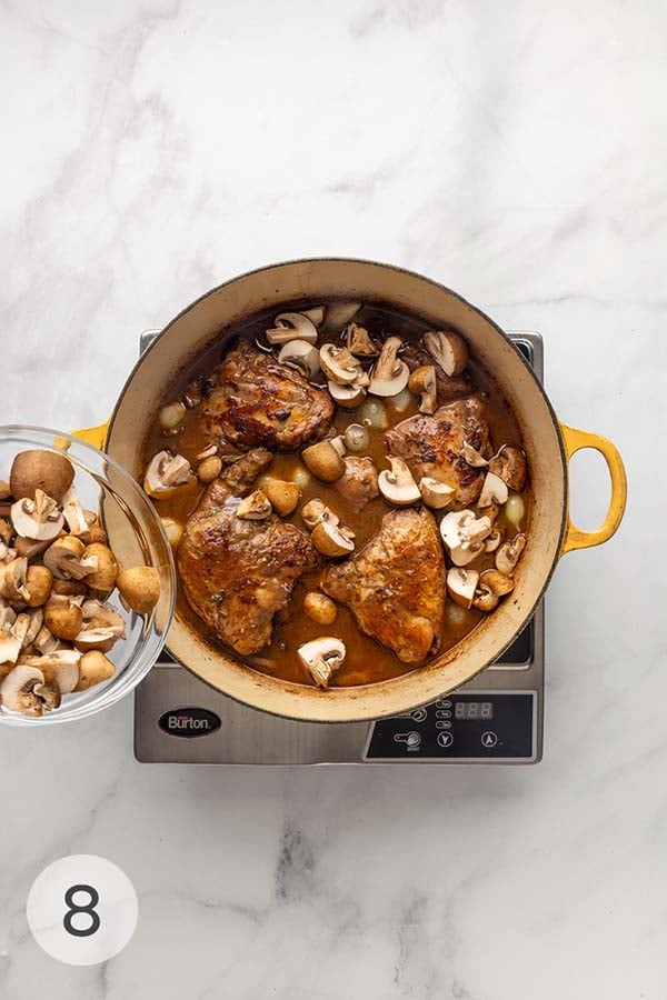
[[[218,371],[220,388],[203,411],[216,437],[241,448],[293,451],[323,438],[331,426],[329,393],[247,340],[226,354]]]

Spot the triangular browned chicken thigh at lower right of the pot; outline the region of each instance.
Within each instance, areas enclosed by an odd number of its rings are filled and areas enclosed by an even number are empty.
[[[396,510],[357,556],[330,566],[325,593],[349,604],[359,628],[404,663],[438,651],[445,611],[445,558],[429,511]]]

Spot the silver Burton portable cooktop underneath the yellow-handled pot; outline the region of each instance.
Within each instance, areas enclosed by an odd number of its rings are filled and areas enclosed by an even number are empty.
[[[141,350],[156,332],[142,336]],[[541,379],[541,337],[509,336]],[[135,693],[135,754],[220,764],[537,763],[544,669],[541,603],[506,654],[456,693],[376,722],[279,719],[232,701],[165,657]]]

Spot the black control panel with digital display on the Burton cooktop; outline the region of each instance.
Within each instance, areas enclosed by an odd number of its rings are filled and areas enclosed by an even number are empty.
[[[370,728],[362,760],[527,763],[535,759],[536,698],[535,691],[467,691],[381,719]]]

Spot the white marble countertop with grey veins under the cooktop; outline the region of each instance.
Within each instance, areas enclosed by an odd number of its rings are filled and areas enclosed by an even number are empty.
[[[3,422],[97,423],[142,329],[348,254],[539,330],[558,413],[630,483],[549,591],[538,767],[149,767],[131,701],[0,732],[3,1000],[667,996],[666,31],[606,0],[3,4]],[[576,462],[585,526],[606,489]],[[72,853],[139,894],[102,966],[27,929]]]

